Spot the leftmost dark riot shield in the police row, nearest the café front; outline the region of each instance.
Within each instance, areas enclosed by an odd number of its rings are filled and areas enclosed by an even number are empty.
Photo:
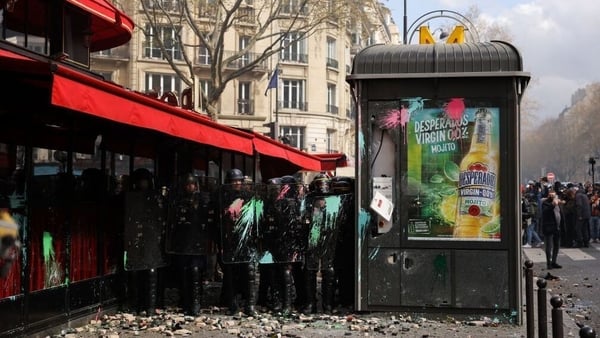
[[[166,203],[155,191],[125,193],[125,270],[148,270],[168,264],[164,250]]]

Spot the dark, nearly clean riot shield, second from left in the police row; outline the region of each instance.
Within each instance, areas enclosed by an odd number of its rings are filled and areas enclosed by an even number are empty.
[[[175,255],[216,252],[216,178],[188,176],[169,194],[166,251]]]

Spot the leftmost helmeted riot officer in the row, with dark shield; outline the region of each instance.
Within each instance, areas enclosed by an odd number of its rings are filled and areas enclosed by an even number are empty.
[[[124,250],[128,295],[136,312],[153,314],[163,301],[161,268],[168,265],[165,252],[166,203],[154,189],[146,168],[132,174],[132,191],[125,193]]]

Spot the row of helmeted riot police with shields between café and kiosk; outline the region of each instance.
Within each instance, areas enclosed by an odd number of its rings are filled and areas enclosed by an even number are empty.
[[[224,184],[192,174],[168,191],[151,182],[149,172],[134,172],[123,193],[126,310],[163,306],[168,279],[190,315],[209,305],[287,316],[353,304],[351,178],[254,183],[231,169]],[[221,282],[220,304],[204,303],[208,280]]]

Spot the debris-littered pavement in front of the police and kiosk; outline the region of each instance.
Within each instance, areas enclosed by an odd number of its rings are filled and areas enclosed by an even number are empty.
[[[218,287],[208,287],[216,299]],[[168,298],[168,297],[167,297]],[[173,304],[176,303],[172,301]],[[259,308],[259,310],[262,310]],[[550,312],[550,309],[548,309]],[[106,310],[92,319],[82,319],[39,333],[33,337],[52,338],[126,338],[126,337],[527,337],[526,314],[523,325],[509,324],[506,318],[458,318],[419,313],[351,313],[340,310],[333,315],[305,316],[292,313],[288,317],[259,311],[256,317],[242,313],[227,315],[225,308],[204,308],[199,316],[187,316],[177,308],[157,310],[146,316]],[[566,311],[564,336],[578,337],[574,313]],[[548,323],[551,321],[549,320]],[[536,335],[537,335],[536,328]],[[548,335],[552,336],[551,325]]]

